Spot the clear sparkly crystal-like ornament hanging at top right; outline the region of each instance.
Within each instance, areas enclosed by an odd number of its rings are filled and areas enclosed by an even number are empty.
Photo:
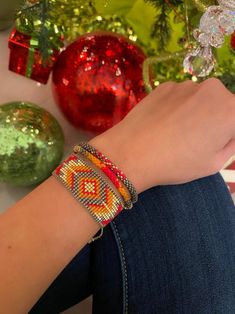
[[[184,60],[185,72],[198,77],[208,76],[215,66],[211,47],[220,48],[225,36],[235,30],[235,0],[218,0],[210,6],[200,20],[193,36],[199,46],[190,51]]]

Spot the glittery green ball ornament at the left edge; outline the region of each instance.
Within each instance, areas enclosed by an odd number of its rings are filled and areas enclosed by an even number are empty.
[[[59,164],[63,148],[63,131],[48,111],[28,102],[0,105],[1,182],[42,182]]]

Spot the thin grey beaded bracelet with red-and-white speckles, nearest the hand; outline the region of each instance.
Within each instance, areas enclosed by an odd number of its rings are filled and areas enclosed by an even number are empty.
[[[125,174],[118,169],[118,167],[112,163],[110,159],[108,159],[105,155],[103,155],[100,151],[98,151],[96,148],[91,146],[90,144],[86,142],[79,143],[79,145],[76,145],[74,147],[74,152],[79,150],[79,147],[81,146],[84,148],[86,151],[100,159],[107,167],[109,167],[112,172],[119,178],[119,180],[127,187],[128,191],[131,194],[131,201],[132,203],[136,203],[138,201],[138,194],[136,192],[136,189],[134,185],[128,180],[128,178],[125,176]]]

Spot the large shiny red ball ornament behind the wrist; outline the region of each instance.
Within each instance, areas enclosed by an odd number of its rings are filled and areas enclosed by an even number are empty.
[[[146,95],[145,55],[123,36],[81,36],[61,53],[53,69],[56,101],[76,127],[103,132],[122,120]]]

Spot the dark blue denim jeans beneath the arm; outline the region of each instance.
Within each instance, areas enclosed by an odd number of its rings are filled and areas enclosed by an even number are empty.
[[[30,314],[93,295],[100,314],[234,314],[235,207],[220,174],[139,195]]]

